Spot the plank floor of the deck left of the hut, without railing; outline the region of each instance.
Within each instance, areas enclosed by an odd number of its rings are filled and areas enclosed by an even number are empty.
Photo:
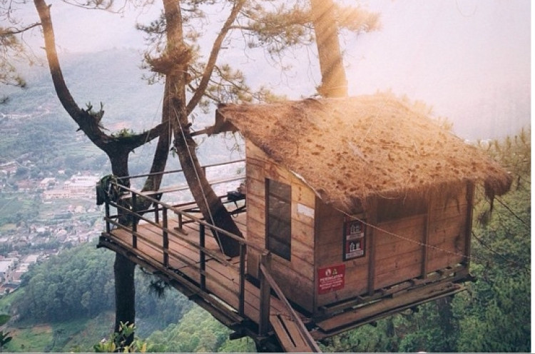
[[[166,221],[166,226],[163,221],[142,221],[136,231],[116,225],[102,234],[99,246],[121,253],[160,276],[235,330],[237,337],[249,335],[259,343],[273,345],[270,337],[276,335],[285,352],[319,351],[317,346],[311,348],[308,342],[312,337],[305,338],[308,333],[303,335],[287,305],[277,296],[269,295],[269,310],[263,315],[266,302],[261,300],[261,294],[265,290],[244,277],[245,268],[240,267],[245,267],[245,257],[226,257],[211,233],[205,233],[202,246],[200,223],[187,218],[183,221],[181,228],[177,216]],[[245,236],[245,213],[235,216],[235,222]],[[268,318],[270,326],[264,324],[262,328],[263,316]],[[310,323],[305,315],[298,316],[303,324]],[[277,350],[277,346],[271,349]]]

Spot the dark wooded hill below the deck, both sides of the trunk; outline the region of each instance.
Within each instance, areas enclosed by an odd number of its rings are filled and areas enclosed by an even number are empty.
[[[24,277],[17,292],[24,296],[11,305],[19,322],[58,322],[92,318],[113,310],[115,288],[113,253],[87,243],[63,251],[44,263],[37,264]],[[175,290],[163,298],[149,293],[152,276],[136,273],[136,308],[140,322],[148,329],[161,329],[175,323],[192,306]]]

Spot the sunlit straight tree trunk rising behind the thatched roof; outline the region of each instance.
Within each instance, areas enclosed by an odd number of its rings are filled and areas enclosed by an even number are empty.
[[[317,91],[323,97],[347,96],[347,79],[332,0],[310,0],[312,24],[320,57],[322,84]]]

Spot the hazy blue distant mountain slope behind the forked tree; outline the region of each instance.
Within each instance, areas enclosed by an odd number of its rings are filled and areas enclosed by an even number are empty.
[[[141,53],[134,49],[59,55],[63,76],[76,103],[81,108],[91,103],[94,109],[98,109],[102,102],[105,111],[103,126],[110,133],[122,128],[143,131],[161,120],[163,85],[149,85],[142,79],[143,74],[149,73],[140,68],[141,58]],[[70,161],[80,161],[81,154],[91,161],[97,161],[96,156],[101,156],[98,161],[103,158],[107,161],[104,153],[93,146],[83,133],[76,132],[76,123],[56,96],[48,66],[26,67],[21,72],[28,83],[27,88],[7,92],[9,101],[0,104],[0,131],[15,134],[9,141],[0,142],[0,151],[9,151],[4,158],[17,158],[29,151],[36,155],[36,150],[40,150],[45,155],[71,156]],[[13,119],[5,121],[10,118]],[[16,118],[21,119],[14,121]],[[213,114],[197,115],[194,128],[203,128],[210,121],[213,121]],[[231,139],[229,143],[224,137],[198,138],[201,163],[217,163],[243,156],[243,153],[230,152],[230,147],[235,145],[234,138]],[[147,172],[154,148],[156,143],[148,143],[131,154],[132,174]],[[51,161],[51,158],[44,160]],[[55,166],[63,164],[61,161],[54,163]],[[170,158],[168,165],[169,169],[179,168],[178,158]],[[91,166],[96,165],[91,162]]]

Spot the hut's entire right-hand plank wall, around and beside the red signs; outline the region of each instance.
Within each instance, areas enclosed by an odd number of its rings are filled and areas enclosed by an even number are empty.
[[[365,257],[346,262],[342,261],[344,216],[317,200],[316,267],[345,264],[345,287],[317,295],[317,306],[367,293],[368,284],[372,290],[379,290],[465,261],[459,253],[465,252],[470,240],[468,200],[467,187],[459,185],[458,192],[445,200],[432,198],[428,213],[378,223],[374,250],[367,230]],[[431,247],[424,248],[422,243]],[[368,282],[372,253],[373,278]]]

